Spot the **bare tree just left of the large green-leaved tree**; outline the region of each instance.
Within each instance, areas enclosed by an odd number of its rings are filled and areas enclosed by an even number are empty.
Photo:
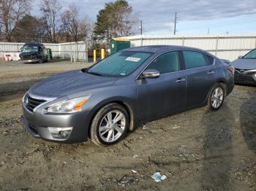
[[[78,42],[89,39],[90,24],[86,17],[78,17],[78,8],[74,4],[61,15],[61,34],[68,42]]]

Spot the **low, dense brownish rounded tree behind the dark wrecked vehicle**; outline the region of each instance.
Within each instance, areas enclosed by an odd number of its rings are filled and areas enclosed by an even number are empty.
[[[18,21],[13,32],[15,42],[42,42],[46,24],[42,18],[25,15]]]

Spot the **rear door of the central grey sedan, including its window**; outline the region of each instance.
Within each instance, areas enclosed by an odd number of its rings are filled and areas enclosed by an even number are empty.
[[[203,104],[217,78],[214,58],[203,52],[184,50],[184,69],[187,73],[187,108]]]

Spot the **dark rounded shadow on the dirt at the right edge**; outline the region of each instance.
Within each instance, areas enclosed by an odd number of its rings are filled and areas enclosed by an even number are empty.
[[[248,92],[249,98],[240,108],[240,126],[249,149],[256,153],[256,95]]]

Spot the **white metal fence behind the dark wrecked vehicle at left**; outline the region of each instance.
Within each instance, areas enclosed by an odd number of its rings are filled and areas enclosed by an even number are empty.
[[[5,52],[20,52],[24,43],[0,42],[0,58]],[[46,48],[53,52],[53,58],[73,59],[75,61],[88,61],[86,42],[69,42],[61,44],[44,43]]]

